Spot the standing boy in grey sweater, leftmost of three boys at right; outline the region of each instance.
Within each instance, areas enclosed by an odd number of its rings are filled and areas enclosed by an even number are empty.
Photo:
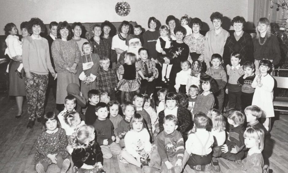
[[[206,73],[216,80],[219,91],[216,94],[217,97],[217,108],[220,112],[223,109],[224,102],[224,89],[227,84],[227,74],[222,67],[222,56],[215,53],[211,57],[212,67],[208,68]]]

